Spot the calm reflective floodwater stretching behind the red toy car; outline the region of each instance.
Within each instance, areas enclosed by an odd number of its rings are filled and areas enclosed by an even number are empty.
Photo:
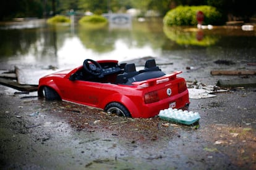
[[[85,28],[77,24],[49,26],[44,20],[0,25],[1,70],[14,65],[73,68],[85,59],[173,59],[255,61],[256,31],[241,26],[198,30],[164,27],[161,19],[130,25]]]

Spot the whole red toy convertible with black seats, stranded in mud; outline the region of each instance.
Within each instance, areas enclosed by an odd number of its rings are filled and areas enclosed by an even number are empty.
[[[164,108],[189,105],[186,81],[176,76],[179,73],[166,75],[155,59],[147,60],[140,71],[134,63],[119,65],[117,60],[87,59],[74,70],[41,78],[38,96],[101,108],[120,116],[150,118]]]

